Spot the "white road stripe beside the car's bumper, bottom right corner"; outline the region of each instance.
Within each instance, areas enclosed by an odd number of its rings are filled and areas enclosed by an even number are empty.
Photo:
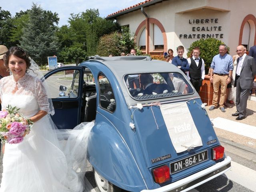
[[[256,191],[256,171],[246,166],[231,161],[231,169],[223,175],[252,191]]]

